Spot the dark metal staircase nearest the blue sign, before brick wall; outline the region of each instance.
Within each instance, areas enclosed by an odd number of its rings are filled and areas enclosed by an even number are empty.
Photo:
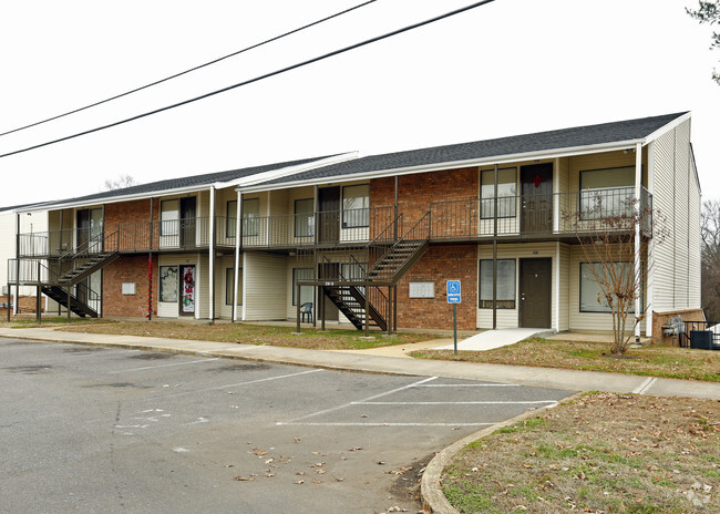
[[[362,268],[363,278],[347,279],[339,274],[339,280],[326,280],[322,284],[325,296],[358,329],[378,327],[388,330],[390,323],[391,301],[382,287],[391,287],[408,273],[423,256],[430,244],[430,213],[408,230],[399,240],[392,235],[401,226],[402,215],[398,216],[367,247],[369,258],[377,256],[366,271],[351,256],[357,266]],[[392,235],[391,235],[392,234]],[[327,259],[326,259],[327,260]],[[366,292],[369,295],[366,298]]]

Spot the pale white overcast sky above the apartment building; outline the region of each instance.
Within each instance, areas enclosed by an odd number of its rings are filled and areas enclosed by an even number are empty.
[[[0,8],[0,132],[162,79],[362,0],[40,0]],[[472,0],[377,0],[152,90],[0,137],[0,153],[112,123]],[[681,111],[703,198],[720,198],[720,52],[697,0],[496,0],[194,104],[0,158],[0,206],[137,182]],[[719,66],[720,68],[720,66]]]

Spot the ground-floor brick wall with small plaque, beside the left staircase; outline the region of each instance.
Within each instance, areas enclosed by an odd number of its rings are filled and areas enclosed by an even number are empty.
[[[123,295],[123,282],[135,294]],[[147,255],[121,256],[103,268],[103,316],[144,318],[147,313]],[[153,312],[157,311],[157,256],[153,256]]]

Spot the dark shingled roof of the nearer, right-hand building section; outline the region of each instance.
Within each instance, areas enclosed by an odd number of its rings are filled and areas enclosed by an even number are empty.
[[[577,126],[535,134],[500,137],[497,140],[459,143],[431,148],[410,150],[382,155],[370,155],[339,164],[310,169],[295,175],[275,178],[258,185],[284,184],[296,181],[319,181],[322,178],[359,175],[385,169],[408,168],[432,164],[501,157],[547,150],[572,148],[577,146],[640,140],[667,125],[686,113]]]

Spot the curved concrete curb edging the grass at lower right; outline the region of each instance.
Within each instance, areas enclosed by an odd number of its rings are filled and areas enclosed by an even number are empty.
[[[574,400],[582,397],[583,394],[583,392],[572,394],[560,400],[560,402]],[[557,404],[559,404],[559,402],[555,405]],[[511,424],[515,424],[518,421],[523,421],[527,418],[536,417],[538,413],[553,409],[555,405],[542,407],[539,409],[527,411],[513,419],[505,420],[492,426],[487,426],[480,432],[475,432],[474,434],[470,434],[466,438],[461,439],[460,441],[436,453],[435,456],[433,456],[432,460],[428,463],[428,467],[425,467],[425,471],[422,474],[422,479],[420,480],[420,500],[422,501],[423,510],[433,514],[460,514],[459,511],[450,504],[445,497],[445,494],[442,492],[442,487],[440,486],[442,472],[445,469],[445,465],[448,465],[448,463],[452,460],[452,458],[455,456],[455,454],[457,454],[457,452],[460,452],[467,444],[475,442],[479,439],[485,438],[498,429],[510,426]]]

